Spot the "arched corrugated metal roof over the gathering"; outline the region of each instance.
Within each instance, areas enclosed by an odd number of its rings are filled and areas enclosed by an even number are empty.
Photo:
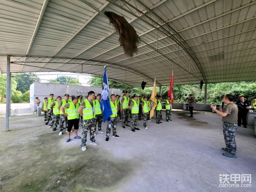
[[[256,80],[256,1],[1,0],[0,70],[103,75],[132,87]],[[141,38],[124,55],[104,11]],[[24,57],[27,56],[27,57]],[[24,64],[24,65],[22,65]]]

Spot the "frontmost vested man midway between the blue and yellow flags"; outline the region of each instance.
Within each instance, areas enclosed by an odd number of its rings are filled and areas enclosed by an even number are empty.
[[[132,112],[131,119],[131,130],[135,132],[135,130],[140,130],[138,128],[138,116],[139,116],[139,101],[137,95],[133,95],[133,99],[131,100],[130,110]]]

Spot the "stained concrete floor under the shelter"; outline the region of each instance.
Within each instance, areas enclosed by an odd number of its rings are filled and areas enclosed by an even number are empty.
[[[99,145],[87,141],[87,151],[81,150],[81,140],[73,139],[74,132],[66,143],[66,134],[47,129],[43,116],[14,116],[11,131],[0,123],[1,192],[255,191],[254,129],[239,127],[237,158],[228,158],[221,150],[221,117],[199,111],[195,118],[188,116],[188,111],[175,110],[172,122],[156,124],[153,119],[148,130],[139,121],[136,132],[121,128],[119,121],[120,138],[110,137],[108,143],[102,124],[104,133],[95,136]],[[252,187],[220,188],[219,174],[252,174]]]

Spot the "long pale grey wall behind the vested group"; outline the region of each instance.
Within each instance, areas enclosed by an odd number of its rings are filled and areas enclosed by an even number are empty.
[[[54,94],[56,99],[58,96],[64,97],[64,94],[68,93],[71,95],[88,95],[89,91],[94,91],[95,95],[101,93],[101,87],[88,87],[88,86],[76,86],[76,85],[63,85],[63,84],[48,84],[48,83],[37,83],[34,82],[30,85],[30,108],[33,111],[36,111],[35,98],[38,97],[41,100],[44,100],[44,97],[49,97],[51,93]],[[123,95],[121,89],[111,89],[109,94]]]

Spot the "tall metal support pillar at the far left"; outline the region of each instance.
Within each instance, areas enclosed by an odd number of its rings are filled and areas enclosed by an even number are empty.
[[[10,56],[7,56],[6,71],[6,115],[5,115],[5,131],[9,131],[9,119],[11,117],[11,77],[10,73]]]

